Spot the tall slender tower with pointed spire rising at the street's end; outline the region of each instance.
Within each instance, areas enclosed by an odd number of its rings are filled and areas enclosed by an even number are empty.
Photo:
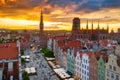
[[[40,16],[40,35],[39,35],[39,44],[40,48],[47,48],[47,34],[44,32],[44,22],[43,22],[43,13],[41,11],[41,16]]]

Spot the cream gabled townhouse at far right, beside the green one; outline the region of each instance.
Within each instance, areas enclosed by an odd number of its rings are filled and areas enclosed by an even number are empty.
[[[105,66],[106,80],[120,80],[120,58],[117,58],[114,54],[109,55],[108,62]]]

